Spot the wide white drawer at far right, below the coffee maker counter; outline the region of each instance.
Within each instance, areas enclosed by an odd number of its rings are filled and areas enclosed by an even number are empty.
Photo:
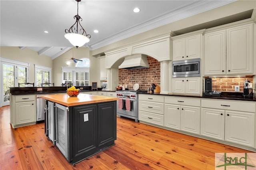
[[[255,102],[250,101],[230,101],[230,100],[206,100],[202,99],[202,107],[234,110],[255,113]]]

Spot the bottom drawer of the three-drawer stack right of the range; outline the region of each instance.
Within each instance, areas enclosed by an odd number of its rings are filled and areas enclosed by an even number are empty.
[[[139,111],[139,120],[148,123],[164,126],[164,115]]]

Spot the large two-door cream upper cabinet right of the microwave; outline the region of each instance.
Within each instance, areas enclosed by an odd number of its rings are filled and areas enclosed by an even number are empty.
[[[253,73],[253,24],[204,34],[204,75]]]

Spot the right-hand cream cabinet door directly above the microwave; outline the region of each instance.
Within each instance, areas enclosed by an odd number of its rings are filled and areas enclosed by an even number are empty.
[[[186,37],[185,59],[201,58],[201,36],[202,35],[199,34],[195,36]]]

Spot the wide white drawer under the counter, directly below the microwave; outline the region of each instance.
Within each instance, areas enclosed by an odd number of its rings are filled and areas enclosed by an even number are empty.
[[[188,97],[164,97],[165,103],[200,107],[200,99]]]

